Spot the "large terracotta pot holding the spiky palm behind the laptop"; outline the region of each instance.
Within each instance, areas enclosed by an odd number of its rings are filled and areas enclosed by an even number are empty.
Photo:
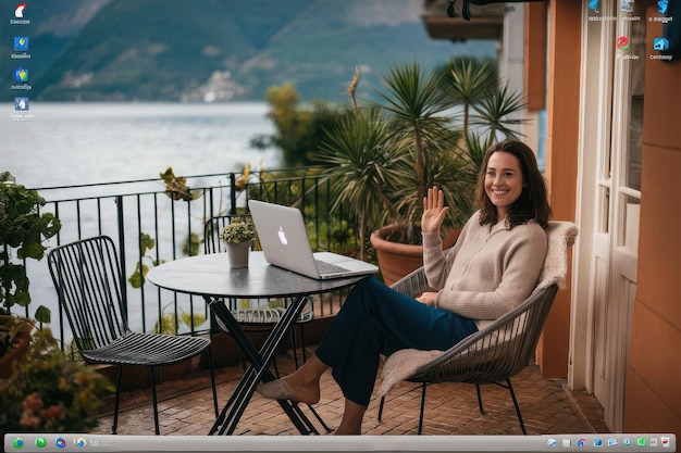
[[[423,265],[423,246],[392,242],[385,239],[399,228],[401,227],[398,225],[387,225],[372,232],[370,237],[385,285],[393,285]],[[454,246],[460,234],[460,229],[446,234],[443,250]]]

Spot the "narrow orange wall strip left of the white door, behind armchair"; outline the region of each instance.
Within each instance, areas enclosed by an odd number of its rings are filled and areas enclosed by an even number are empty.
[[[546,177],[553,218],[571,222],[577,203],[581,12],[579,1],[553,0],[549,5]],[[538,363],[546,377],[568,374],[570,278],[567,284],[556,295],[538,344]]]

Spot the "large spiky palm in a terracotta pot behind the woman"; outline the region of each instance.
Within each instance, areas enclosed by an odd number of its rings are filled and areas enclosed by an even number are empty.
[[[373,231],[370,241],[391,284],[422,264],[419,224],[428,188],[437,185],[450,206],[443,244],[450,247],[474,210],[487,143],[497,135],[515,137],[517,121],[508,115],[524,103],[499,86],[491,62],[476,60],[432,70],[397,64],[376,92],[377,102],[329,128],[321,158],[332,165],[336,202],[359,219],[360,235]]]

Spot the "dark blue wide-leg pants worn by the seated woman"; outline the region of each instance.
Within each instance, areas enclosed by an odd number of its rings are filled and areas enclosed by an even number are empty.
[[[366,278],[352,288],[314,353],[332,368],[345,398],[369,406],[382,354],[444,351],[475,331],[470,318]]]

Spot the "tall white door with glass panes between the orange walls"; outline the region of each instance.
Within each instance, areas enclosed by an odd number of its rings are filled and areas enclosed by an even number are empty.
[[[646,16],[644,2],[584,2],[579,272],[573,387],[593,391],[621,431],[636,286]],[[626,3],[626,2],[624,2]],[[592,3],[593,4],[593,3]]]

